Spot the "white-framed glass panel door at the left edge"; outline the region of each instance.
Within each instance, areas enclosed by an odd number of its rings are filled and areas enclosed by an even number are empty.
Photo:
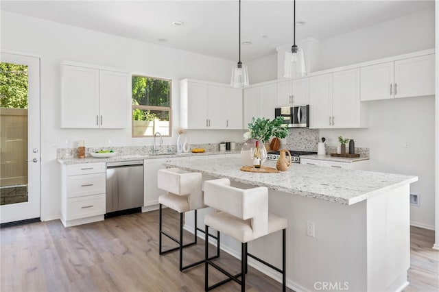
[[[1,53],[1,223],[40,217],[40,59]]]

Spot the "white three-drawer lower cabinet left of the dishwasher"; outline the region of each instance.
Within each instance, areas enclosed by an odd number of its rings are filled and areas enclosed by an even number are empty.
[[[106,165],[62,165],[61,221],[65,227],[104,220]]]

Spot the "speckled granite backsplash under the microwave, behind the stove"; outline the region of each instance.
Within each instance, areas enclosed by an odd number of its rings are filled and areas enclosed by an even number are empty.
[[[281,148],[297,151],[316,151],[318,130],[289,129],[289,135],[282,139]]]

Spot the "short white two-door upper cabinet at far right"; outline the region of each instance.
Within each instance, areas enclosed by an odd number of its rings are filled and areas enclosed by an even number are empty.
[[[361,101],[434,95],[434,54],[361,67]]]

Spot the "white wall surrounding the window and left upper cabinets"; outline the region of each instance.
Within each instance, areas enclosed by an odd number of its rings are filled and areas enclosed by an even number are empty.
[[[41,56],[41,219],[59,216],[60,165],[56,148],[67,139],[85,140],[86,147],[152,145],[152,138],[131,138],[130,128],[122,130],[74,130],[60,128],[60,62],[69,60],[126,69],[130,73],[165,77],[173,81],[173,127],[178,127],[179,80],[194,78],[230,82],[234,62],[152,45],[119,36],[93,32],[1,11],[1,50]],[[84,106],[87,106],[84,104]],[[242,141],[244,131],[187,132],[189,142],[219,143],[221,138]],[[193,136],[193,139],[191,138]],[[57,141],[57,145],[55,144]],[[165,138],[165,144],[176,137]]]

